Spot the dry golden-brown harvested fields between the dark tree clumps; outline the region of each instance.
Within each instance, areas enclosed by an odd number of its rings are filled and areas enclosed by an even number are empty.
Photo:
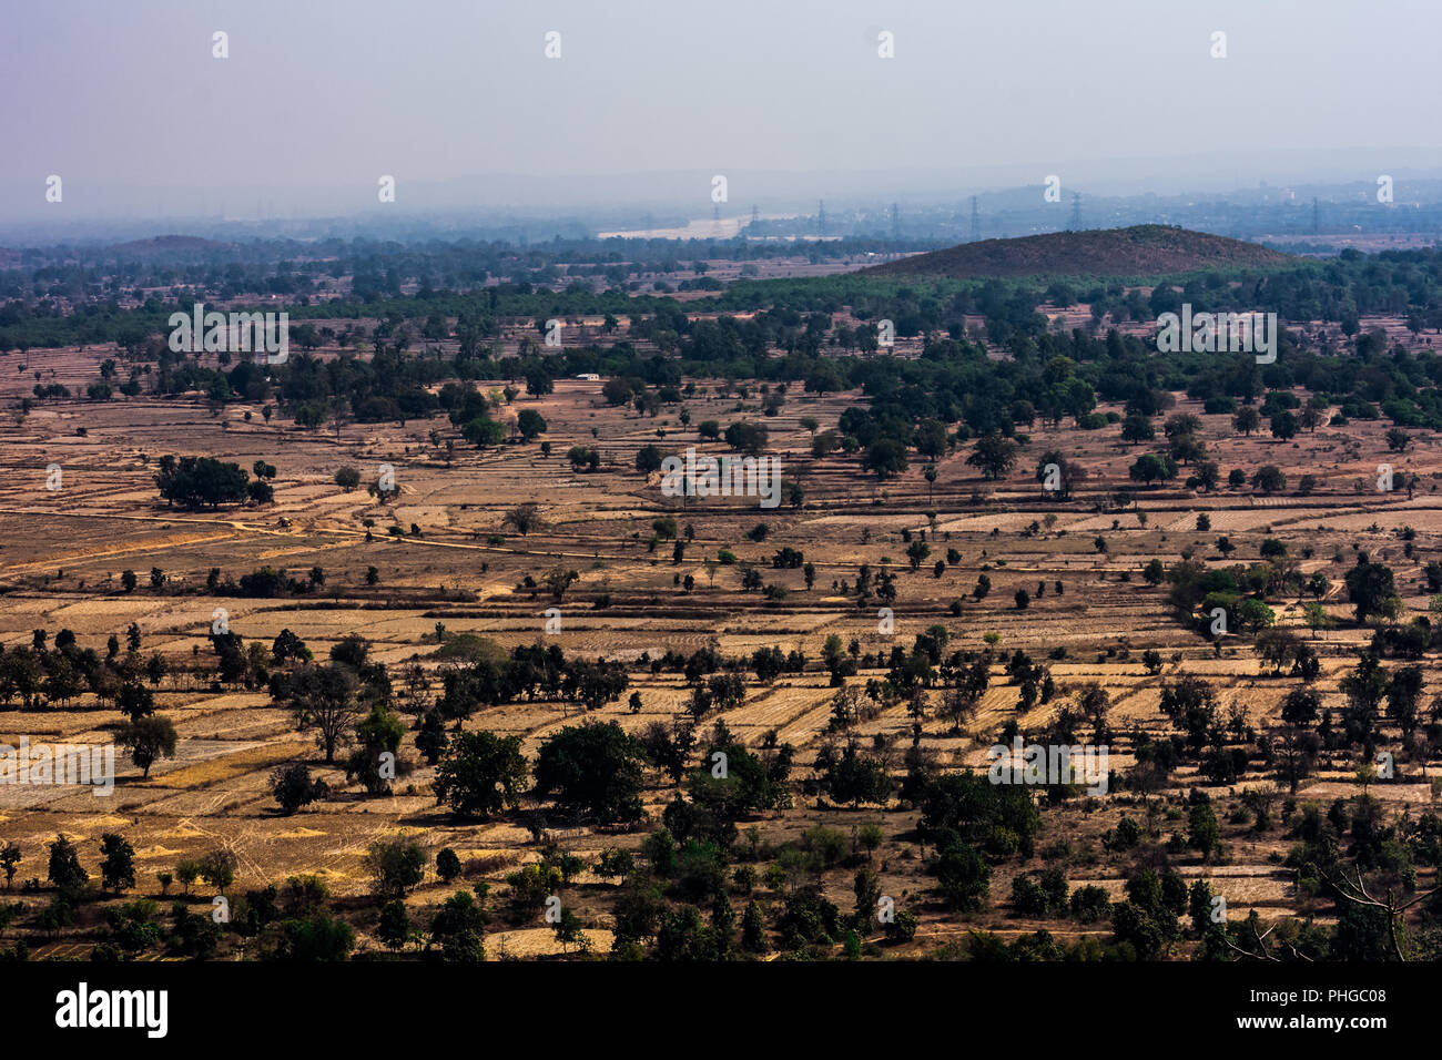
[[[85,378],[102,353],[46,358],[56,378]],[[480,388],[506,384],[482,381]],[[558,894],[590,948],[604,950],[626,890],[619,883],[624,873],[594,871],[597,858],[609,851],[655,858],[643,847],[646,836],[671,819],[676,792],[694,782],[678,786],[659,763],[646,763],[646,818],[630,826],[604,826],[529,795],[477,821],[437,798],[437,766],[417,744],[423,718],[450,702],[447,681],[480,658],[476,652],[503,659],[536,646],[557,648],[567,659],[610,661],[626,675],[624,691],[590,708],[544,686],[480,701],[447,715],[448,736],[518,737],[532,766],[558,734],[583,721],[616,723],[642,740],[653,730],[694,728],[696,744],[684,772],[708,769],[701,751],[718,740],[767,763],[784,751],[790,795],[743,815],[727,870],[754,868],[734,900],[758,903],[770,917],[803,884],[849,910],[854,875],[865,870],[875,873],[880,894],[919,917],[913,940],[877,953],[932,953],[965,942],[973,929],[1014,939],[1045,927],[1061,945],[1105,939],[1105,920],[1018,914],[1012,885],[1018,877],[1060,870],[1073,891],[1099,887],[1120,900],[1129,875],[1151,864],[1115,839],[1125,819],[1125,828],[1141,826],[1144,845],[1149,836],[1148,858],[1188,885],[1206,880],[1223,896],[1229,919],[1257,910],[1265,919],[1331,923],[1332,906],[1315,888],[1299,887],[1285,861],[1305,805],[1325,811],[1361,792],[1358,751],[1324,748],[1292,792],[1280,759],[1259,747],[1280,738],[1283,704],[1304,685],[1328,717],[1345,714],[1344,682],[1374,632],[1351,617],[1344,586],[1358,554],[1390,567],[1403,617],[1426,610],[1423,568],[1442,532],[1435,498],[1442,461],[1429,433],[1413,434],[1402,456],[1389,451],[1379,423],[1321,425],[1279,443],[1237,434],[1230,417],[1177,395],[1172,412],[1197,417],[1198,437],[1223,476],[1272,463],[1291,480],[1314,476],[1306,496],[1226,483],[1185,487],[1185,467],[1169,483],[1138,487],[1128,469],[1141,450],[1119,441],[1115,430],[1048,425],[1030,434],[1017,467],[995,480],[968,463],[965,446],[934,460],[933,480],[916,463],[878,480],[844,451],[812,453],[816,430],[855,407],[857,392],[797,388],[764,420],[756,397],[695,379],[679,417],[675,405],[656,414],[610,405],[596,381],[557,379],[551,392],[516,394],[497,410],[512,424],[538,412],[545,420],[541,438],[487,449],[461,441],[444,415],[307,430],[244,401],[219,408],[144,397],[58,402],[0,425],[9,472],[0,489],[0,643],[7,653],[55,650],[63,630],[74,650],[92,650],[110,661],[105,666],[118,668],[127,656],[137,666],[159,658],[159,676],[140,684],[176,733],[173,756],[159,757],[149,777],[117,746],[114,793],[104,798],[74,786],[0,786],[0,841],[17,844],[22,854],[16,887],[45,875],[46,848],[58,835],[69,836],[97,874],[98,844],[114,832],[136,851],[134,893],[179,891],[198,909],[209,907],[216,888],[203,878],[185,885],[177,865],[224,849],[234,855],[232,896],[316,877],[348,911],[359,945],[382,948],[371,904],[375,873],[365,858],[378,841],[401,839],[418,844],[427,861],[423,881],[407,887],[404,898],[414,919],[425,923],[461,883],[485,885],[499,917],[487,935],[487,955],[496,959],[575,949],[562,948],[544,909],[516,904],[518,884],[508,881],[521,867],[559,864],[568,855],[581,862]],[[676,498],[662,489],[662,474],[637,470],[645,446],[725,454],[724,443],[698,437],[696,424],[707,420],[764,421],[766,453],[803,495],[776,508],[760,508],[754,496]],[[598,460],[590,469],[572,463],[572,447],[594,447]],[[1032,477],[1045,451],[1064,453],[1084,470],[1070,496],[1057,499]],[[273,464],[274,496],[239,506],[169,506],[154,482],[167,454],[216,456],[242,469]],[[1416,476],[1410,492],[1377,493],[1367,485],[1389,463],[1399,476]],[[50,464],[61,467],[58,489],[46,483]],[[336,485],[343,467],[356,469],[358,487]],[[394,477],[394,489],[366,490],[385,476]],[[536,518],[522,522],[516,512],[525,505],[535,506]],[[1275,675],[1249,632],[1210,637],[1168,601],[1167,577],[1159,584],[1146,577],[1154,560],[1164,570],[1185,560],[1246,568],[1263,560],[1266,541],[1285,547],[1279,577],[1293,571],[1325,580],[1319,597],[1293,583],[1263,593],[1275,626],[1315,655],[1317,672],[1306,679]],[[1275,547],[1266,549],[1275,562]],[[267,568],[280,590],[236,588],[244,575]],[[574,577],[559,588],[548,581],[567,571]],[[1319,607],[1308,610],[1309,603]],[[1317,616],[1321,624],[1312,629],[1308,620]],[[218,669],[216,633],[239,639],[244,662],[229,673]],[[343,653],[348,637],[362,637],[365,665],[384,666],[384,705],[402,724],[386,783],[368,790],[362,774],[348,769],[359,708],[336,727],[327,756],[314,718],[298,717],[275,695],[271,678],[297,669],[296,659],[274,655],[283,635],[298,637],[317,662],[333,658],[332,649]],[[945,665],[930,671],[914,697],[887,691],[923,640]],[[779,669],[760,675],[754,656],[771,649]],[[1025,688],[1018,679],[1009,666],[1018,652],[1044,686]],[[686,661],[708,653],[715,662],[702,663],[699,676],[685,672]],[[874,697],[867,712],[841,727],[828,659],[841,661],[841,685]],[[949,707],[957,686],[953,662],[981,666],[988,678],[960,712]],[[696,686],[731,663],[740,697],[720,710],[698,708]],[[1422,671],[1430,688],[1432,662]],[[1182,678],[1210,685],[1217,725],[1224,725],[1216,746],[1242,753],[1247,769],[1218,783],[1204,770],[1204,756],[1182,754],[1155,783],[1126,783],[1144,757],[1149,761],[1156,747],[1180,740],[1178,723],[1162,705]],[[1094,734],[1076,725],[1074,712],[1093,686],[1106,701]],[[61,697],[46,685],[29,708],[22,699],[12,691],[0,711],[12,743],[22,736],[81,744],[123,737],[114,688]],[[924,826],[919,831],[923,802],[904,795],[901,782],[917,770],[985,776],[995,757],[989,748],[1009,744],[1009,733],[1045,741],[1058,725],[1070,725],[1079,744],[1106,746],[1110,783],[1038,799],[1040,831],[1028,841],[1030,854],[996,861],[988,897],[957,909],[937,891],[937,851],[927,847]],[[1442,748],[1397,747],[1396,720],[1386,711],[1379,734],[1396,750],[1394,774],[1368,779],[1368,798],[1392,815],[1432,812]],[[829,763],[848,744],[890,779],[888,795],[857,800],[829,793]],[[323,782],[323,795],[283,813],[273,782],[297,763]],[[1188,839],[1193,790],[1210,796],[1220,825],[1220,844],[1206,857]],[[858,845],[864,825],[880,826],[872,847]],[[826,852],[829,836],[849,852]],[[457,854],[460,880],[437,875],[443,849]],[[157,874],[172,878],[162,884]],[[87,916],[81,923],[98,913]],[[881,940],[881,926],[872,927]],[[42,953],[72,945],[63,933],[49,942],[36,935],[35,942]]]

